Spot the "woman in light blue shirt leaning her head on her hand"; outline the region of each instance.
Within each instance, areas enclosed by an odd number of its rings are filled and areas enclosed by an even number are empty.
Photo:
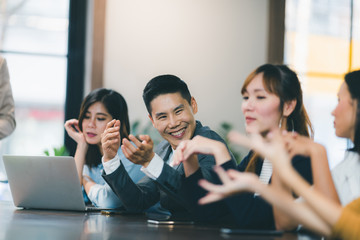
[[[114,145],[106,142],[102,146],[105,129],[111,131],[111,136],[119,137],[119,140],[112,142]],[[83,100],[79,118],[67,120],[65,130],[77,143],[74,158],[79,180],[85,191],[85,202],[102,208],[121,207],[121,200],[101,177],[103,147],[107,149],[106,152],[112,151],[119,156],[134,181],[137,182],[144,176],[139,171],[140,167],[126,159],[119,148],[120,140],[130,133],[128,109],[123,96],[111,89],[93,90]]]

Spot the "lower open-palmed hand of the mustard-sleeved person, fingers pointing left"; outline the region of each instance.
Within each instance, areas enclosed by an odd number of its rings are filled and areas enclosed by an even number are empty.
[[[233,169],[226,172],[220,166],[216,166],[214,171],[223,184],[216,185],[205,179],[200,180],[199,185],[209,193],[199,200],[199,204],[216,202],[241,192],[253,192],[256,185],[262,184],[254,173],[242,173]]]

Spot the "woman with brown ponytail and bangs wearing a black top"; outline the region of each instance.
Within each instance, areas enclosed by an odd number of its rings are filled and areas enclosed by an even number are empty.
[[[282,129],[296,131],[305,137],[311,136],[312,127],[303,105],[300,81],[296,73],[287,66],[272,64],[259,66],[246,78],[241,94],[243,96],[241,109],[245,117],[246,132],[260,132],[265,136],[274,129]],[[193,153],[214,155],[216,165],[224,169],[256,173],[265,184],[281,184],[276,172],[273,172],[271,162],[261,158],[253,149],[239,165],[233,164],[225,149],[221,144],[213,144],[201,137],[180,143],[175,162],[182,162],[184,168],[188,166],[185,169],[190,169],[185,183],[186,189],[197,193],[194,197],[189,191],[188,196],[192,198],[192,202],[197,202],[206,194],[197,185],[198,180],[203,176],[201,167],[197,167],[196,159],[192,157]],[[292,163],[299,173],[312,183],[310,158],[296,155]],[[290,190],[288,194],[292,195]],[[240,228],[282,229],[285,224],[282,214],[258,194],[238,195],[226,199],[225,203],[228,207],[227,211],[235,218],[236,225]],[[203,209],[197,213],[199,218],[206,219],[218,212],[215,206]]]

